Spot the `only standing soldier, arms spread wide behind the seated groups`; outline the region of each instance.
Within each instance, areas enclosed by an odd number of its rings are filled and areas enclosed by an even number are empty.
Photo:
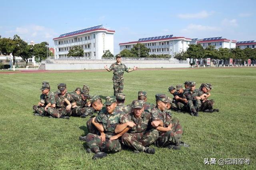
[[[124,89],[124,71],[131,72],[137,69],[137,67],[133,67],[133,69],[128,69],[126,65],[121,63],[121,56],[118,54],[116,55],[116,63],[111,64],[111,66],[108,68],[108,66],[104,66],[104,68],[108,71],[113,70],[113,84],[114,84],[114,96],[116,96],[117,93],[122,93]]]

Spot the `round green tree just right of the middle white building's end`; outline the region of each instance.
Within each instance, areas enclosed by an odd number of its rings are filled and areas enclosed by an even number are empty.
[[[193,64],[195,59],[201,59],[204,57],[204,48],[200,44],[190,44],[186,52],[188,53],[190,61],[193,59]]]

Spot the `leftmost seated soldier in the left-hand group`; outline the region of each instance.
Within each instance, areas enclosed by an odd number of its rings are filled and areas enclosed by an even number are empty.
[[[46,81],[42,82],[42,88],[40,89],[42,94],[40,95],[40,102],[38,105],[34,105],[35,116],[46,116],[48,107],[56,104],[54,99],[54,93],[50,91],[50,84]]]

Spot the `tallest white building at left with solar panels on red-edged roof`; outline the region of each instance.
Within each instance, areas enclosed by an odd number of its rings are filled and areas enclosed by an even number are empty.
[[[71,47],[78,45],[84,49],[84,57],[102,59],[106,50],[114,53],[114,30],[102,25],[61,34],[54,38],[55,59],[66,57]]]

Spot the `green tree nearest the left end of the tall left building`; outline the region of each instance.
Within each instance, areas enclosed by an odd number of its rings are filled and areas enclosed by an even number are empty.
[[[47,57],[47,42],[41,42],[34,45],[35,60],[41,62]]]

